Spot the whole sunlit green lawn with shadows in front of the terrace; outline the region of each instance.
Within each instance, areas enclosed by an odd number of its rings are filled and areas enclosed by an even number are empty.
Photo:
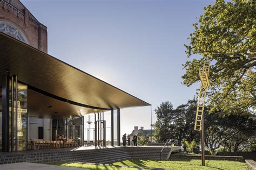
[[[166,169],[249,169],[245,162],[227,161],[227,160],[206,160],[206,166],[201,166],[201,160],[196,159],[180,159],[172,158],[171,160],[147,160],[147,159],[130,159],[119,162],[114,162],[113,165],[93,165],[83,163],[57,163],[52,165],[69,166],[88,169],[138,169],[119,166],[133,166],[133,167],[152,167],[152,168],[166,168]],[[114,166],[116,165],[116,166]]]

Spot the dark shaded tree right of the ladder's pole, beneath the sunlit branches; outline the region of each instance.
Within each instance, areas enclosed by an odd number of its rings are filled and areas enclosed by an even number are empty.
[[[225,151],[244,151],[255,144],[256,122],[249,115],[219,115],[205,112],[205,144],[216,153],[219,148]]]

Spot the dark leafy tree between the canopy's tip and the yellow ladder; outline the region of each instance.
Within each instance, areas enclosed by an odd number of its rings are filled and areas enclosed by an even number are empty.
[[[181,145],[184,140],[199,141],[199,133],[194,131],[194,119],[196,118],[197,102],[188,101],[173,109],[171,102],[163,102],[155,111],[157,122],[154,125],[154,138],[157,142],[165,143],[171,139],[172,143]]]

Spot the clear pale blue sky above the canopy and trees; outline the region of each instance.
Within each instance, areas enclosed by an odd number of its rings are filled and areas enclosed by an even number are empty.
[[[199,84],[181,84],[192,24],[214,1],[21,0],[48,27],[48,53],[152,104],[176,108]],[[150,129],[150,107],[121,110],[121,134]]]

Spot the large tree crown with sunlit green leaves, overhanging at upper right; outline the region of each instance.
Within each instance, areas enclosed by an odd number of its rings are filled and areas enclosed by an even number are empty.
[[[193,24],[190,44],[185,45],[183,83],[199,81],[203,61],[211,61],[209,91],[211,111],[226,114],[255,113],[256,109],[256,2],[218,0],[204,8]]]

